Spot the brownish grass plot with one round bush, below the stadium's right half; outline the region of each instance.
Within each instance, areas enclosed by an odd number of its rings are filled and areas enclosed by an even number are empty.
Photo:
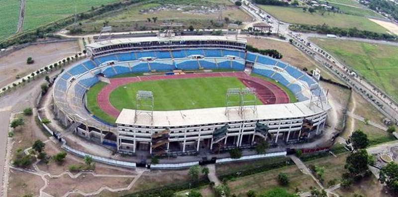
[[[279,173],[286,173],[290,179],[289,185],[283,187],[288,192],[296,193],[296,188],[298,191],[304,192],[310,191],[309,188],[311,186],[318,188],[315,181],[309,175],[303,174],[295,165],[240,177],[228,181],[228,187],[231,189],[231,194],[236,194],[238,197],[247,197],[246,193],[249,190],[253,190],[257,194],[263,194],[268,190],[282,187],[277,182]]]

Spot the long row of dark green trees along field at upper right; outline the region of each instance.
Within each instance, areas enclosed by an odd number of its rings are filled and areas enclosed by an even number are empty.
[[[359,30],[356,27],[352,28],[331,27],[325,23],[323,23],[322,25],[294,24],[290,25],[289,29],[291,29],[292,31],[316,32],[321,34],[335,34],[338,36],[349,36],[349,37],[367,38],[375,40],[397,41],[398,39],[398,36],[393,34]]]

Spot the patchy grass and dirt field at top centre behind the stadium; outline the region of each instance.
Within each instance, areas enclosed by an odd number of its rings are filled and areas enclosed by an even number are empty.
[[[199,5],[207,7],[202,8]],[[195,10],[195,12],[192,10]],[[150,30],[159,28],[164,20],[182,22],[185,28],[190,25],[195,28],[207,28],[215,25],[220,12],[223,20],[225,17],[228,17],[230,21],[251,20],[248,14],[228,0],[153,1],[151,3],[137,3],[119,10],[117,13],[105,13],[86,20],[82,22],[81,28],[84,32],[98,32],[103,23],[107,22],[114,31]],[[154,17],[157,17],[156,22],[152,20]],[[147,18],[150,18],[151,21],[148,22]]]

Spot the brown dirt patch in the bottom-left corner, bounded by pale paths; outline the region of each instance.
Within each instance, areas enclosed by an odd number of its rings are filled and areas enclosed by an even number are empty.
[[[8,183],[9,197],[39,196],[39,190],[44,186],[44,181],[39,176],[12,169]]]

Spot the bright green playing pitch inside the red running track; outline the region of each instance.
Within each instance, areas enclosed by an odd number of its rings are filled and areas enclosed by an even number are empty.
[[[155,80],[128,84],[110,94],[112,105],[121,110],[135,108],[138,90],[153,91],[154,110],[180,110],[225,106],[228,88],[244,88],[234,77]],[[259,100],[258,103],[261,103]]]

